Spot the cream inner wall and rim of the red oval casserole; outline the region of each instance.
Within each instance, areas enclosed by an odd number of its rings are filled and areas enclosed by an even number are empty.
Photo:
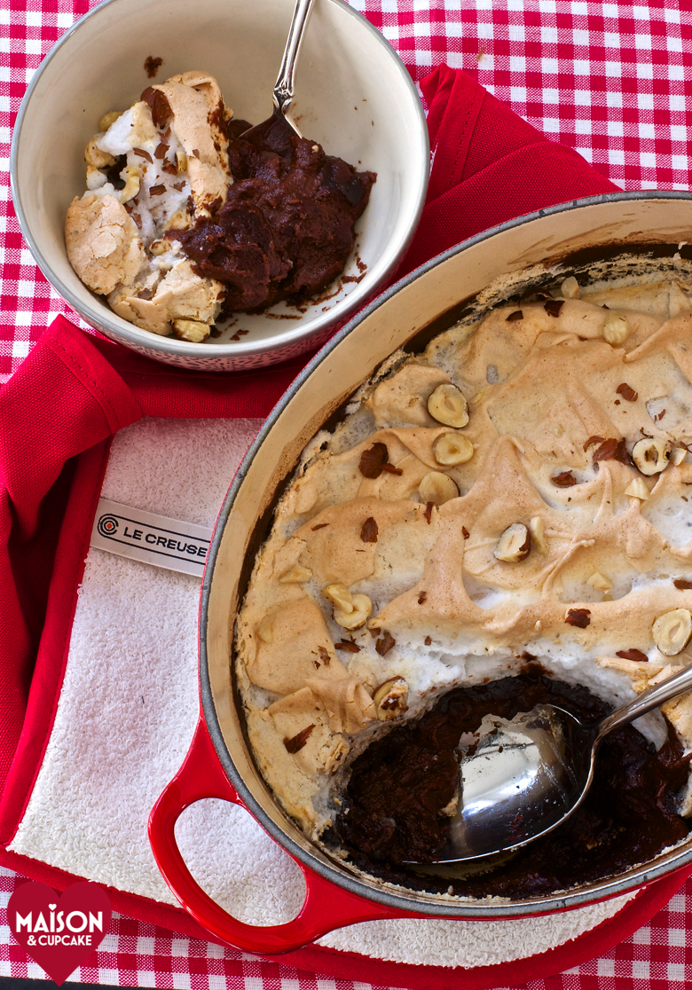
[[[453,248],[427,269],[409,276],[308,366],[270,416],[229,491],[202,591],[200,678],[205,718],[222,765],[264,828],[300,860],[346,889],[426,914],[516,917],[624,893],[692,858],[692,845],[686,843],[620,876],[561,895],[505,904],[449,904],[436,895],[402,894],[400,889],[388,890],[375,881],[356,878],[347,865],[328,859],[274,803],[248,750],[229,669],[235,616],[277,495],[306,443],[338,412],[347,396],[397,347],[425,347],[433,333],[455,323],[469,298],[498,276],[548,259],[571,257],[589,263],[589,256],[597,260],[630,247],[636,254],[643,252],[644,267],[655,270],[660,262],[653,255],[658,254],[668,269],[674,269],[678,245],[686,240],[685,231],[692,225],[692,197],[653,195],[657,198],[623,193],[555,207],[543,216],[504,225]],[[652,251],[646,247],[651,244],[656,246]],[[689,249],[685,256],[692,256]],[[515,286],[514,291],[518,290],[521,285]]]

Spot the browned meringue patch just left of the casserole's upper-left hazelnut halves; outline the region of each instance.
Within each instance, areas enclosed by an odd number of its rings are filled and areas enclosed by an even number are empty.
[[[437,423],[428,412],[428,396],[450,381],[449,375],[429,364],[405,364],[395,375],[385,378],[365,401],[375,426],[410,423],[418,427],[434,427]]]

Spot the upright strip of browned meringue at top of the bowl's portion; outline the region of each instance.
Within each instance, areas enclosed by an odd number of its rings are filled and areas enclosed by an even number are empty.
[[[233,182],[229,170],[228,138],[219,126],[231,112],[214,76],[207,72],[183,72],[152,87],[165,95],[173,112],[173,127],[187,155],[187,173],[197,215],[208,215],[215,199],[226,202]]]

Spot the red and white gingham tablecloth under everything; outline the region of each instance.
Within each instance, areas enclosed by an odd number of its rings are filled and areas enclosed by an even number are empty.
[[[382,31],[414,78],[442,62],[461,67],[624,189],[690,188],[692,4],[350,3]],[[0,0],[0,381],[26,357],[56,314],[70,314],[19,232],[8,165],[12,126],[33,71],[62,33],[93,6],[93,0]],[[7,902],[18,881],[16,874],[0,868],[0,976],[45,979],[6,924]],[[69,979],[194,990],[379,990],[176,936],[117,914],[96,958],[98,965],[81,966]],[[692,985],[692,881],[648,925],[603,957],[524,984],[530,990],[674,990],[687,985]]]

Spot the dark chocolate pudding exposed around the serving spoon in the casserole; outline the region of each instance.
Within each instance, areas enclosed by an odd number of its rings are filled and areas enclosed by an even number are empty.
[[[545,676],[530,663],[517,677],[456,688],[417,722],[371,743],[351,767],[344,811],[325,841],[338,841],[360,868],[407,887],[468,897],[531,897],[621,873],[685,839],[676,795],[690,757],[675,730],[656,752],[632,726],[602,743],[594,781],[580,808],[554,832],[482,875],[450,879],[405,871],[406,859],[435,858],[448,835],[440,809],[457,787],[457,745],[489,713],[512,719],[535,705],[558,705],[584,722],[611,710],[584,687]]]

